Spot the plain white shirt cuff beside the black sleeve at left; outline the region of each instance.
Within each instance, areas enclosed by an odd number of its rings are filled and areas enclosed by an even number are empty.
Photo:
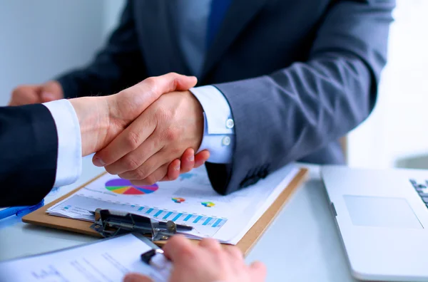
[[[82,169],[82,144],[80,125],[73,105],[66,100],[56,100],[43,105],[49,109],[58,133],[58,159],[54,187],[76,182]]]

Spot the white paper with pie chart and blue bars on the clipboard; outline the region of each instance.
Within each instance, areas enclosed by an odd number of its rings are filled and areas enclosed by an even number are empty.
[[[237,244],[299,170],[290,164],[251,187],[228,196],[214,191],[205,167],[181,174],[172,182],[136,186],[116,175],[105,174],[49,208],[55,216],[94,221],[97,208],[128,211],[159,221],[193,226],[189,238],[212,237]]]

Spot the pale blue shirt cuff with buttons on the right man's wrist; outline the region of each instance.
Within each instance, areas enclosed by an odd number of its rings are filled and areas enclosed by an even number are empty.
[[[199,100],[204,110],[205,127],[198,152],[210,151],[208,162],[232,162],[235,124],[228,100],[212,85],[191,88],[190,92]]]

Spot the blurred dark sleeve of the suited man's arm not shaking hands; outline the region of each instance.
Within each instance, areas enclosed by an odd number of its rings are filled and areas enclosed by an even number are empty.
[[[133,5],[128,1],[118,28],[93,62],[56,80],[61,83],[66,98],[76,98],[114,94],[143,77],[146,77],[146,68],[138,48]]]

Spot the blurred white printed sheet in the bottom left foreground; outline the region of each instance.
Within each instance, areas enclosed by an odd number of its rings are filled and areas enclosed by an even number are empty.
[[[151,250],[133,234],[101,240],[63,251],[0,263],[0,282],[116,282],[129,272],[163,281],[156,269],[141,261]]]

